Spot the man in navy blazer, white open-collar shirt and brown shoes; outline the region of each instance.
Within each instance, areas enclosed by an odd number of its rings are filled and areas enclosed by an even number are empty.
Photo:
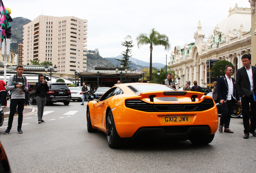
[[[231,113],[233,111],[234,103],[238,102],[241,105],[239,99],[238,91],[235,87],[235,79],[231,77],[233,74],[233,68],[231,65],[225,67],[226,74],[217,80],[217,93],[219,97],[219,102],[221,103],[221,118],[219,123],[219,131],[234,133],[229,129],[229,123],[231,119]]]

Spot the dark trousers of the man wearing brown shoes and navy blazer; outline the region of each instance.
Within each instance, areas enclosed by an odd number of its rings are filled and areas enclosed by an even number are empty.
[[[235,100],[226,101],[223,105],[221,105],[221,118],[220,123],[222,127],[224,126],[225,129],[229,128],[229,123],[231,119],[231,113],[233,111]]]

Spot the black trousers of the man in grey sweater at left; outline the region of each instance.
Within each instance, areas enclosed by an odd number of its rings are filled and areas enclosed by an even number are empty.
[[[10,100],[10,115],[8,120],[7,129],[12,128],[13,116],[16,113],[18,106],[18,129],[21,129],[22,121],[23,121],[23,110],[24,110],[25,99],[11,99]]]

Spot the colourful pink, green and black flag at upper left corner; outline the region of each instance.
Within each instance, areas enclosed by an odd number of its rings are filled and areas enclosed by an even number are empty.
[[[9,22],[12,22],[12,18],[8,11],[5,9],[4,4],[2,0],[0,0],[0,12],[1,12],[1,17],[0,17],[0,28],[2,29],[2,40],[5,38],[11,38],[11,26]]]

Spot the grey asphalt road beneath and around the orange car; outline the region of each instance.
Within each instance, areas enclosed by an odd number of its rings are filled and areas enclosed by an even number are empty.
[[[23,134],[17,133],[17,117],[11,133],[0,141],[14,173],[255,173],[256,137],[243,139],[242,119],[231,119],[233,134],[215,134],[209,145],[190,141],[134,143],[111,149],[104,133],[88,133],[86,105],[81,102],[45,107],[23,117]]]

